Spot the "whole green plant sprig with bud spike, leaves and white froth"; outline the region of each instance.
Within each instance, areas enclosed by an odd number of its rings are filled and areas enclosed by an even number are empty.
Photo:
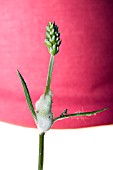
[[[18,76],[21,80],[26,101],[28,103],[29,109],[32,113],[34,121],[39,130],[39,159],[38,159],[38,170],[43,170],[43,162],[44,162],[44,135],[45,133],[52,127],[52,125],[62,119],[75,117],[75,116],[91,116],[97,113],[100,113],[107,108],[103,108],[101,110],[95,110],[91,112],[79,112],[69,114],[67,109],[65,109],[58,117],[54,117],[52,113],[52,91],[51,91],[51,79],[52,79],[52,71],[54,66],[54,57],[59,52],[59,47],[61,44],[60,40],[60,32],[58,26],[52,22],[48,23],[46,27],[46,39],[45,44],[50,53],[50,64],[47,74],[47,82],[44,94],[41,95],[38,101],[36,101],[35,108],[33,107],[32,100],[30,97],[30,93],[27,87],[27,84],[22,77],[21,73],[17,70]]]

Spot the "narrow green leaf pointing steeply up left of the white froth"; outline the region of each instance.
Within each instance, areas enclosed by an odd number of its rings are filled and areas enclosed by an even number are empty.
[[[17,72],[18,72],[18,76],[21,80],[23,89],[24,89],[24,93],[25,93],[25,97],[26,97],[26,101],[28,103],[29,109],[32,113],[33,118],[35,119],[35,121],[37,121],[36,113],[34,111],[34,107],[33,107],[32,101],[31,101],[31,97],[30,97],[29,90],[27,88],[26,82],[24,81],[24,78],[22,77],[22,75],[20,74],[20,72],[18,70],[17,70]]]

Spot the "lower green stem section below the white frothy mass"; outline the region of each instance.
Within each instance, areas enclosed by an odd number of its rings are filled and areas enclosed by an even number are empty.
[[[43,170],[43,162],[44,162],[44,135],[45,135],[45,133],[39,134],[38,170]]]

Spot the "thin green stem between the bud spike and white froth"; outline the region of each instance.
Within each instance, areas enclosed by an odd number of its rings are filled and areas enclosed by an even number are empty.
[[[48,75],[47,75],[45,95],[47,95],[50,91],[53,66],[54,66],[54,56],[51,55],[50,63],[49,63],[49,70],[48,70]]]

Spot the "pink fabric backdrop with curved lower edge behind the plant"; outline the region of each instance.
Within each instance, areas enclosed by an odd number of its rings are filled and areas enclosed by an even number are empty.
[[[45,90],[49,54],[45,27],[56,21],[62,44],[52,79],[55,116],[110,107],[91,117],[58,121],[54,128],[113,123],[113,1],[0,0],[0,121],[36,127],[17,76],[33,104]]]

